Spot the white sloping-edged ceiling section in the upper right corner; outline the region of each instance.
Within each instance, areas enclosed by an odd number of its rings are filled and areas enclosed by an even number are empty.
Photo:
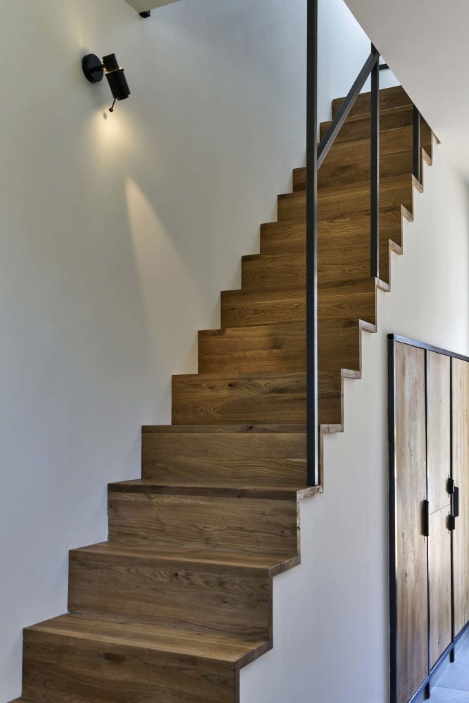
[[[345,0],[469,180],[469,0]]]

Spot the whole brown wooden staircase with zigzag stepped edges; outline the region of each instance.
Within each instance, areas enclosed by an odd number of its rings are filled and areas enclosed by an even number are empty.
[[[370,278],[369,96],[319,172],[319,418],[342,431],[343,379],[411,221],[411,101],[381,91],[380,280]],[[339,101],[334,101],[333,112]],[[328,124],[321,125],[324,132]],[[431,164],[432,134],[422,128]],[[300,563],[306,484],[305,169],[176,375],[172,425],[143,427],[142,478],[109,486],[109,541],[70,552],[69,613],[26,628],[23,698],[236,703],[239,671],[273,646],[272,579]]]

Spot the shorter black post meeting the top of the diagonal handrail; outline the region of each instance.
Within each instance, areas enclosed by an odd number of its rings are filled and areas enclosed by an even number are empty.
[[[371,70],[371,276],[380,277],[380,55]]]

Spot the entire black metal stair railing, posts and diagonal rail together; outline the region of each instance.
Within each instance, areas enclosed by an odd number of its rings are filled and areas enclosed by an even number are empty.
[[[318,146],[318,0],[307,0],[307,482],[321,484],[318,413],[318,170],[333,146],[356,99],[371,77],[370,274],[380,276],[380,54],[373,44],[347,97]],[[421,176],[420,113],[413,106],[413,175]]]

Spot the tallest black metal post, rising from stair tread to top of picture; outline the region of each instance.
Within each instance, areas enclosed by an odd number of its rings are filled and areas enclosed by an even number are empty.
[[[307,482],[319,485],[318,421],[318,0],[307,0],[306,347]]]

